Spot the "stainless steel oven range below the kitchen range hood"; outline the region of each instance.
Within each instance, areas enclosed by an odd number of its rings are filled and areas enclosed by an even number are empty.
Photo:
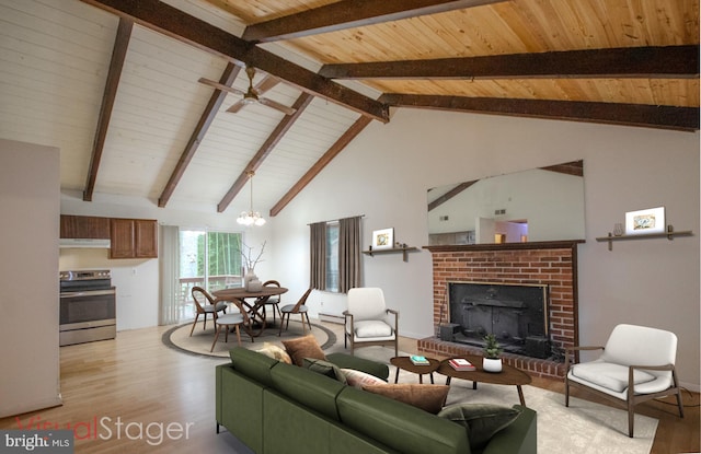
[[[114,339],[116,289],[110,270],[61,271],[59,345]]]

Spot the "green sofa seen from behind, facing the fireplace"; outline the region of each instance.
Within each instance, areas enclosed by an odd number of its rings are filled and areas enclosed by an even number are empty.
[[[231,350],[216,371],[217,432],[223,426],[257,454],[471,453],[466,429],[450,420],[342,384],[253,350]],[[327,360],[387,380],[386,364],[344,353]],[[536,412],[497,432],[483,454],[536,453]]]

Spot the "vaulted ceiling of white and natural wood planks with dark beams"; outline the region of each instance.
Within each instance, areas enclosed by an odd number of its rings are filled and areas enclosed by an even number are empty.
[[[394,108],[699,129],[698,0],[0,0],[0,137],[59,147],[87,201],[238,213],[254,172],[276,216]]]

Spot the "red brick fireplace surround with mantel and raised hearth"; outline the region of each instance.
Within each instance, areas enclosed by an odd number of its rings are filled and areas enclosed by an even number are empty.
[[[433,256],[434,326],[449,322],[447,291],[451,282],[540,284],[549,290],[549,340],[553,354],[547,359],[503,353],[504,361],[535,376],[562,377],[561,354],[578,344],[577,244],[583,241],[426,246]],[[440,357],[481,354],[479,347],[421,339],[420,351]]]

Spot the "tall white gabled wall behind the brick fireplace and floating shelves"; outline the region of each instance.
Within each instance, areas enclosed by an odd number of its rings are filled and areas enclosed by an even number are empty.
[[[586,243],[578,246],[583,344],[601,344],[619,323],[656,326],[679,337],[681,381],[699,388],[699,132],[401,109],[371,124],[273,220],[276,275],[307,286],[309,222],[365,214],[364,237],[394,228],[395,238],[426,245],[426,189],[459,181],[584,159]],[[619,242],[597,236],[625,211],[665,206],[691,237]],[[384,289],[404,335],[433,335],[427,251],[364,256],[365,284]],[[302,260],[302,261],[300,261]],[[323,306],[321,303],[323,302]],[[345,300],[313,292],[311,311]]]

